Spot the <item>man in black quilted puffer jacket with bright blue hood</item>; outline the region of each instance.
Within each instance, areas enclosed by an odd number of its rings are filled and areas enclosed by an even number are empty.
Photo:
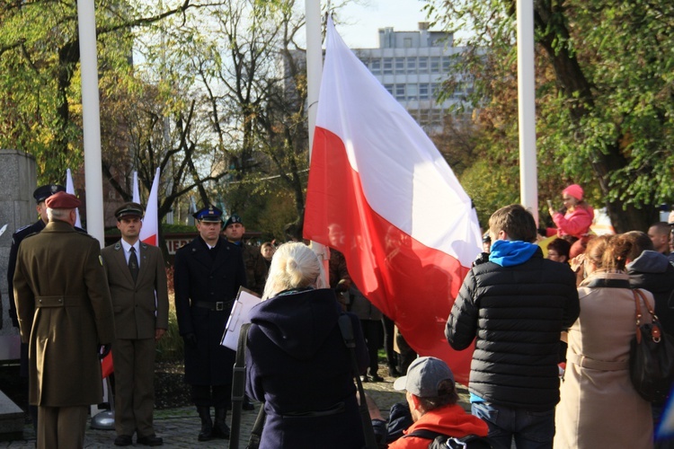
[[[519,205],[489,219],[492,252],[475,261],[445,335],[452,348],[475,339],[472,412],[489,425],[494,448],[551,448],[559,401],[560,334],[578,318],[575,275],[543,258],[534,217]]]

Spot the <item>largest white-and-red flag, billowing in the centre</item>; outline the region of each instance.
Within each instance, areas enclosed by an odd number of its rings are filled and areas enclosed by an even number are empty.
[[[304,236],[341,251],[350,277],[421,356],[467,383],[472,351],[445,339],[482,237],[471,200],[429,137],[328,21]]]

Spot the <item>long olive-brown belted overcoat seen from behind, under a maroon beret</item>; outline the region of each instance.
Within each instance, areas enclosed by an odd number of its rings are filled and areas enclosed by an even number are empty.
[[[102,402],[100,344],[114,339],[112,305],[99,242],[65,222],[26,237],[13,291],[29,343],[29,401],[42,407]]]

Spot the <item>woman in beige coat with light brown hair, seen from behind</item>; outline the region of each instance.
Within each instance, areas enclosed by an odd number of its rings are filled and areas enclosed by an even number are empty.
[[[555,449],[652,447],[651,404],[634,390],[628,365],[636,332],[635,293],[625,273],[631,247],[624,235],[604,235],[583,255],[587,277],[578,288],[581,314],[568,332]],[[642,292],[652,307],[651,293]],[[642,321],[651,321],[640,305]]]

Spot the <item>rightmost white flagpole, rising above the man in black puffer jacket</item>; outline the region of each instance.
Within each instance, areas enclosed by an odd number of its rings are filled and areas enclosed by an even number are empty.
[[[519,198],[538,224],[536,162],[536,77],[534,75],[534,3],[517,0]]]

